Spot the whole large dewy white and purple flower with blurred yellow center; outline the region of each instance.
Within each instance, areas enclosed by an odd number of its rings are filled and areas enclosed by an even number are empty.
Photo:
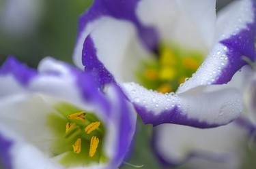
[[[225,83],[242,56],[255,58],[255,2],[234,1],[217,17],[215,4],[96,0],[79,20],[74,62],[102,86],[118,83],[147,124],[228,124],[242,98]]]

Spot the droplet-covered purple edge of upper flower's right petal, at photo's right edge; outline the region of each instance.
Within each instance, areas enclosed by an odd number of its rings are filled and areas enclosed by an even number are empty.
[[[227,47],[228,64],[216,79],[214,84],[223,84],[231,80],[233,75],[247,63],[242,60],[242,56],[246,56],[251,60],[255,60],[255,37],[256,37],[256,3],[253,3],[254,21],[247,24],[246,29],[242,29],[237,35],[232,35],[229,39],[221,41]]]

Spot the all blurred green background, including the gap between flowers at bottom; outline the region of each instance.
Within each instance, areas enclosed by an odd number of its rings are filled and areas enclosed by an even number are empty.
[[[0,0],[0,10],[3,7],[3,1],[5,0]],[[14,54],[20,61],[31,67],[37,67],[38,62],[44,56],[53,56],[72,64],[77,20],[91,2],[92,0],[44,0],[42,17],[33,31],[25,36],[10,36],[0,29],[0,64],[9,54]],[[220,8],[226,3],[227,1],[224,0],[218,1],[217,7]],[[127,159],[128,163],[143,165],[141,168],[144,169],[163,168],[152,153],[151,136],[152,126],[145,126],[139,120],[134,151],[131,158]],[[254,169],[256,152],[253,149],[248,149],[247,146],[245,146],[245,152],[246,157],[244,157],[242,169]],[[130,164],[124,164],[121,169],[134,168]],[[179,169],[185,168],[181,166]]]

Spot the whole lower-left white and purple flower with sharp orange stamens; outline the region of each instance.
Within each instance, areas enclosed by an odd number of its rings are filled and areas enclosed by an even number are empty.
[[[115,86],[44,58],[38,71],[10,57],[0,68],[0,164],[14,168],[118,168],[136,113]]]

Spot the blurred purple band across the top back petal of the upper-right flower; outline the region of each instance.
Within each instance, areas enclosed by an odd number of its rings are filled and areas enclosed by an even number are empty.
[[[78,39],[89,22],[102,16],[111,16],[113,18],[128,20],[132,22],[138,30],[139,37],[145,47],[149,50],[156,50],[158,47],[159,37],[156,30],[149,26],[144,26],[139,22],[136,15],[136,7],[139,0],[95,0],[89,10],[79,18]]]

